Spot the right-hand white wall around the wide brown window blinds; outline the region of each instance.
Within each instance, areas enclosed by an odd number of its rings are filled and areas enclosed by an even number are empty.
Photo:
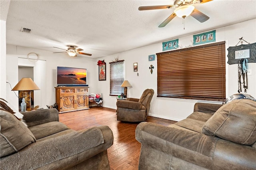
[[[228,47],[235,46],[239,42],[239,38],[250,43],[256,42],[256,20],[250,20],[239,24],[226,26],[223,28],[212,29],[216,30],[216,42],[226,41],[226,56],[228,55]],[[211,30],[206,30],[211,31]],[[194,34],[200,34],[194,33]],[[186,47],[193,41],[193,35],[179,38],[179,44]],[[246,43],[244,43],[246,44]],[[180,121],[190,115],[193,111],[194,103],[209,101],[185,100],[185,99],[165,99],[156,97],[157,93],[157,65],[155,61],[148,61],[148,55],[162,52],[162,42],[130,51],[124,51],[116,55],[110,55],[100,58],[105,59],[107,63],[107,81],[98,83],[99,90],[105,92],[104,107],[116,109],[116,97],[109,96],[109,62],[115,57],[124,59],[126,64],[126,80],[130,82],[132,87],[128,87],[128,97],[139,98],[144,89],[154,89],[154,96],[151,101],[150,115],[174,121]],[[226,62],[228,57],[226,57]],[[166,61],[168,62],[168,61]],[[133,71],[133,63],[138,63],[138,73]],[[149,66],[154,66],[153,73],[150,73]],[[238,93],[238,65],[226,64],[226,97]],[[252,70],[252,75],[248,75],[248,90],[247,93],[256,97],[256,63],[248,63],[248,69]],[[243,91],[244,92],[244,91]]]

